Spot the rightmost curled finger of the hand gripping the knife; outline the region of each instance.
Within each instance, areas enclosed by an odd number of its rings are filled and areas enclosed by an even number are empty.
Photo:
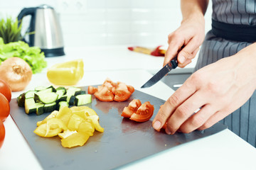
[[[183,49],[178,52],[178,63],[183,64],[190,56],[196,56],[196,52],[198,51],[198,42],[196,42],[196,38],[192,38],[188,44],[183,47]],[[195,52],[196,51],[196,52]]]

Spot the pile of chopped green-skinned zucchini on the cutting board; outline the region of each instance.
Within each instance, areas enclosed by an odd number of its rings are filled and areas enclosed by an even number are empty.
[[[17,98],[19,107],[24,107],[27,114],[36,113],[41,115],[64,106],[82,106],[92,102],[92,95],[85,94],[85,91],[78,87],[60,86],[55,89],[53,86],[38,86],[33,91],[27,91]]]

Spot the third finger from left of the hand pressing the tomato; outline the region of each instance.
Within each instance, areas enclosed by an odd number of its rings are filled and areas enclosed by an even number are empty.
[[[200,111],[191,115],[191,117],[181,125],[179,130],[185,133],[192,132],[193,130],[200,128],[204,123],[206,123],[206,121],[214,113],[214,108],[210,104],[206,104],[200,109]]]

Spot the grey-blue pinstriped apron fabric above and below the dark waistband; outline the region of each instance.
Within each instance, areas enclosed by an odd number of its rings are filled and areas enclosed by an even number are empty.
[[[256,0],[212,0],[213,21],[232,25],[256,26]],[[217,36],[214,29],[206,34],[198,55],[195,71],[247,47],[252,42],[228,40]],[[256,147],[256,92],[237,111],[220,120],[236,135]]]

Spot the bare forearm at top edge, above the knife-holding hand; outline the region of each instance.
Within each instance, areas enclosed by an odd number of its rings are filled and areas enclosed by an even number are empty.
[[[206,13],[208,2],[208,0],[181,0],[183,21],[191,16],[203,17]]]

